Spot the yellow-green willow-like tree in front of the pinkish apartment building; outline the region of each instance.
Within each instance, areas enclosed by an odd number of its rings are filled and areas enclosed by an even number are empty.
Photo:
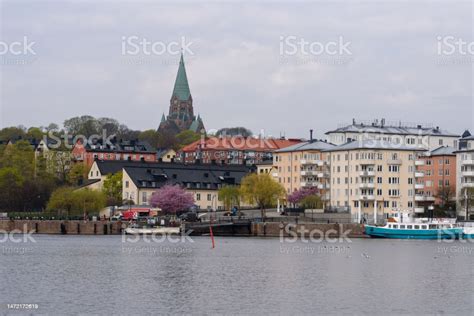
[[[275,205],[285,196],[285,189],[273,180],[269,174],[252,173],[242,179],[240,185],[242,197],[250,204],[256,204],[265,218],[266,208]]]

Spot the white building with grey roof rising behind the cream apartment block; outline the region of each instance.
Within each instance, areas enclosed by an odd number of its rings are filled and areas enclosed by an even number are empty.
[[[441,129],[439,126],[388,122],[385,119],[356,121],[326,132],[327,140],[342,145],[352,140],[379,140],[406,147],[434,150],[440,146],[457,148],[460,135]]]

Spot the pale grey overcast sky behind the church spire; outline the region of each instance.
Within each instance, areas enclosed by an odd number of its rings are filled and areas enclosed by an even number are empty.
[[[183,41],[207,129],[322,136],[382,117],[474,127],[474,44],[452,49],[474,41],[470,1],[0,3],[1,127],[89,114],[157,128]],[[5,52],[25,37],[30,50]],[[155,49],[130,45],[144,39]]]

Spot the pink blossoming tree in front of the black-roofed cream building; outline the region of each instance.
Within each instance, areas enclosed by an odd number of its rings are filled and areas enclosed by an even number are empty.
[[[192,193],[178,185],[165,185],[151,196],[151,205],[159,207],[164,213],[177,214],[194,205]]]

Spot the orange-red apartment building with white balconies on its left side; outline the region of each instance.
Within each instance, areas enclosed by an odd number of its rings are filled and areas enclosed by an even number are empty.
[[[420,207],[431,206],[433,203],[441,205],[442,199],[438,197],[443,190],[451,191],[453,200],[456,194],[456,154],[455,148],[442,146],[424,153],[417,161],[417,169],[424,176],[415,184],[418,192],[426,196],[426,201],[421,201]],[[431,197],[431,198],[430,198]],[[423,203],[424,202],[424,203]]]

